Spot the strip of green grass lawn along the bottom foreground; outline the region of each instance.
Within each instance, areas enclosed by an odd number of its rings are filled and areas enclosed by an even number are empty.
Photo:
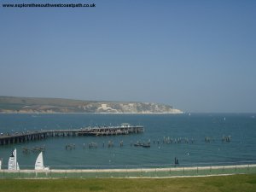
[[[256,174],[179,178],[0,179],[0,191],[256,191]]]

